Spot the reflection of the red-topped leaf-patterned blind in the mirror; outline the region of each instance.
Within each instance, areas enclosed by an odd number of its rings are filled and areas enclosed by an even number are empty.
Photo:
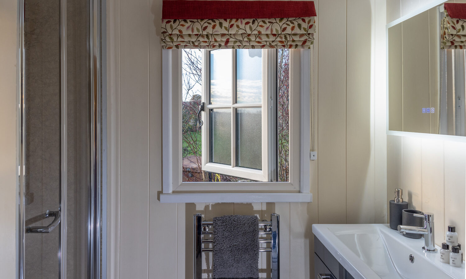
[[[445,3],[441,22],[442,49],[465,49],[466,4]]]

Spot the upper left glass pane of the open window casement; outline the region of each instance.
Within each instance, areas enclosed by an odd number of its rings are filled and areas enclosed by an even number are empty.
[[[210,51],[210,103],[230,105],[233,85],[233,51],[217,49]]]

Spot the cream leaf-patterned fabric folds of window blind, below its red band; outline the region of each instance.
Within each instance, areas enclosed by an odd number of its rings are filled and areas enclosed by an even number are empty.
[[[180,0],[171,0],[180,1]],[[195,1],[195,0],[192,0]],[[164,1],[165,2],[165,1]],[[199,1],[213,2],[213,1]],[[239,2],[239,1],[222,1]],[[271,1],[248,1],[256,5]],[[285,2],[285,1],[276,1]],[[288,3],[298,1],[286,1]],[[307,1],[308,4],[311,1]],[[314,3],[312,7],[314,7]],[[211,12],[212,13],[212,12]],[[209,14],[212,16],[212,14]],[[248,14],[250,15],[250,14]],[[315,11],[309,16],[236,19],[162,19],[161,44],[173,48],[310,48],[314,44]],[[202,17],[202,16],[200,16]]]

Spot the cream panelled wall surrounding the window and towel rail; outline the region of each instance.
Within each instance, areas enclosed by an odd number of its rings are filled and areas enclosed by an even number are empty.
[[[281,214],[281,275],[296,279],[314,273],[312,224],[386,222],[385,1],[315,4],[313,202],[161,204],[162,1],[108,2],[110,278],[190,278],[198,212]]]

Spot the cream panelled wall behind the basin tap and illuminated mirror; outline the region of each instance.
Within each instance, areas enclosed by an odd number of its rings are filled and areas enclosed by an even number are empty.
[[[387,23],[424,5],[428,3],[389,1]],[[466,143],[387,136],[388,200],[398,187],[410,208],[434,213],[437,245],[444,242],[448,225],[457,226],[458,241],[465,243]]]

